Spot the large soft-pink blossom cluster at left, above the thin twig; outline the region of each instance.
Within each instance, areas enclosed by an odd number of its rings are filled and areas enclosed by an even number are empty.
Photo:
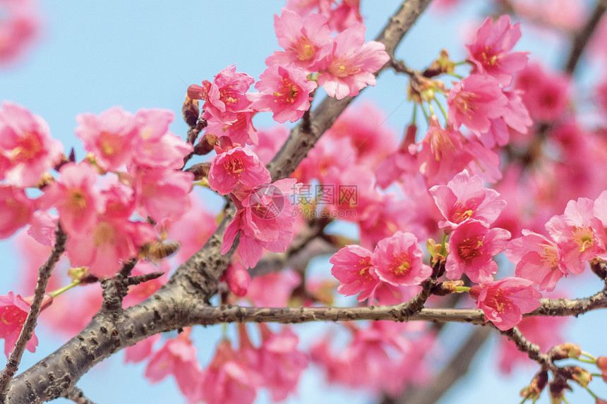
[[[56,221],[68,235],[73,267],[102,278],[156,240],[152,221],[176,221],[188,209],[193,175],[178,171],[191,145],[169,132],[170,111],[119,107],[78,116],[76,135],[88,156],[68,161],[47,124],[21,106],[0,109],[0,235],[31,224],[30,235],[54,244]],[[54,178],[50,171],[58,169]],[[102,176],[106,173],[114,175]],[[103,185],[101,185],[103,183]],[[26,188],[41,188],[33,199]],[[58,216],[51,211],[56,210]]]

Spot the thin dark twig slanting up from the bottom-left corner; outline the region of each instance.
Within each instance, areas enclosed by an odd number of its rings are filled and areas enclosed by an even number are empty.
[[[34,333],[38,314],[40,314],[40,307],[42,306],[42,299],[44,298],[44,292],[46,292],[47,285],[49,283],[49,278],[51,277],[51,273],[56,262],[59,261],[59,258],[61,258],[61,255],[65,249],[67,235],[61,230],[59,222],[57,222],[55,237],[55,245],[51,251],[51,255],[47,259],[47,262],[44,262],[42,267],[38,269],[38,281],[34,290],[34,299],[32,300],[28,317],[25,318],[25,323],[23,324],[23,328],[19,333],[19,338],[15,343],[15,348],[13,348],[11,356],[8,357],[6,367],[4,367],[0,373],[0,403],[4,403],[6,400],[8,384],[18,371],[21,357],[23,356],[23,351],[25,351],[25,347],[28,345],[28,341],[30,341]]]

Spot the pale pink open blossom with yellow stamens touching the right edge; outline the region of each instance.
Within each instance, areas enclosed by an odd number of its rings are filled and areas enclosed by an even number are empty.
[[[603,223],[594,216],[593,200],[570,200],[565,214],[553,216],[546,230],[563,251],[563,261],[572,274],[581,274],[584,263],[594,257],[607,258],[607,238]]]

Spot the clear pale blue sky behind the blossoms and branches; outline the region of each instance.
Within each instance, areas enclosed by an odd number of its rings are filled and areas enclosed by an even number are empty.
[[[399,1],[361,0],[366,18],[367,39],[373,39]],[[464,10],[455,14],[429,14],[421,18],[411,35],[397,51],[397,56],[414,68],[430,63],[440,49],[449,49],[453,59],[462,59],[464,49],[460,38],[467,31],[460,25],[466,21],[481,21],[482,1],[465,1]],[[265,68],[265,58],[278,49],[272,16],[280,13],[284,1],[44,1],[42,16],[44,32],[37,46],[14,68],[0,71],[0,98],[22,104],[42,116],[59,138],[66,152],[75,146],[82,157],[82,147],[73,135],[75,117],[83,112],[100,113],[120,105],[127,111],[140,108],[171,109],[176,114],[172,131],[185,135],[180,109],[186,88],[190,84],[212,80],[222,68],[238,63],[238,70],[258,78]],[[523,32],[525,29],[523,27]],[[524,39],[517,47],[531,50],[534,57],[560,61],[567,49],[533,44]],[[386,114],[386,125],[402,132],[411,106],[402,104],[407,82],[390,72],[385,73],[378,86],[363,92],[363,99],[377,102]],[[359,100],[360,101],[360,100]],[[359,102],[357,101],[357,102]],[[256,117],[257,119],[257,117]],[[256,121],[260,127],[271,124],[270,114]],[[16,288],[19,270],[10,241],[0,244],[5,268],[0,273],[0,293]],[[594,288],[580,288],[577,295],[594,293]],[[28,294],[27,291],[21,291]],[[582,343],[591,353],[607,354],[604,335],[607,322],[604,314],[583,316],[572,329],[572,341]],[[597,326],[596,324],[602,324]],[[592,328],[589,327],[592,326]],[[311,341],[318,325],[297,327],[302,341]],[[467,332],[469,327],[454,327],[453,333]],[[590,331],[594,330],[594,331]],[[61,341],[40,330],[40,347],[35,354],[26,353],[26,367],[42,355],[59,347]],[[216,341],[219,328],[196,330],[205,360],[205,341]],[[461,337],[457,337],[461,338]],[[207,342],[208,343],[208,342]],[[515,403],[517,392],[529,383],[536,367],[503,377],[495,371],[491,348],[495,338],[481,351],[474,370],[443,398],[441,403]],[[602,351],[601,351],[602,350]],[[123,365],[122,355],[92,369],[78,383],[97,403],[180,403],[172,378],[150,385],[142,377],[143,366]],[[597,389],[597,391],[601,391]],[[603,398],[607,398],[603,388]],[[576,403],[591,403],[585,393]],[[56,402],[67,402],[60,399]],[[299,395],[287,403],[373,403],[369,396],[344,388],[329,388],[322,383],[322,374],[307,372],[299,386]],[[268,402],[260,394],[258,403]],[[547,403],[546,397],[542,400]]]

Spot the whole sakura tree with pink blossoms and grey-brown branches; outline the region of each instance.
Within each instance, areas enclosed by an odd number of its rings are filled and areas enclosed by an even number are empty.
[[[399,45],[464,2],[403,1],[378,32],[371,3],[289,0],[256,22],[260,73],[206,54],[221,67],[170,109],[78,111],[78,144],[3,99],[0,236],[23,261],[0,291],[2,403],[92,403],[80,378],[114,354],[188,403],[294,401],[306,372],[436,403],[491,335],[500,372],[529,372],[506,402],[605,402],[607,350],[567,326],[605,331],[607,2],[483,2],[427,58]],[[0,0],[3,65],[39,7]],[[390,114],[359,102],[383,82]],[[50,333],[66,342],[40,353]]]

